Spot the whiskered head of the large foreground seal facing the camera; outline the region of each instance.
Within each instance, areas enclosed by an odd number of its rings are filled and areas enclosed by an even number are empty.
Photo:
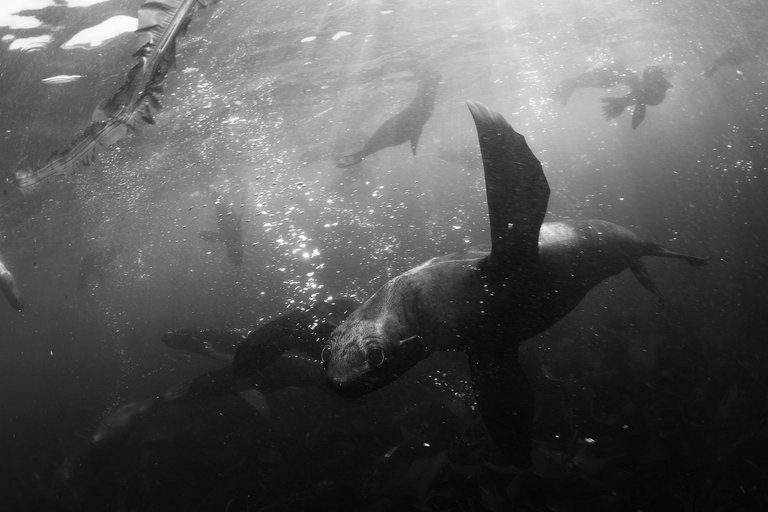
[[[421,337],[399,322],[353,315],[333,331],[322,361],[331,386],[355,397],[395,380],[428,354]]]

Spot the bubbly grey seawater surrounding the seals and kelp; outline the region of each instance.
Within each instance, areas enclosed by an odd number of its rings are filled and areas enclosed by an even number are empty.
[[[0,262],[24,306],[0,299],[0,508],[768,506],[765,2],[209,3],[168,41],[175,62],[136,53],[141,0],[0,6]],[[162,88],[131,81],[142,58]],[[126,84],[135,129],[115,121]],[[628,98],[614,119],[606,97]],[[415,150],[350,157],[420,98]],[[712,258],[649,260],[663,304],[624,272],[521,345],[532,468],[489,437],[460,352],[350,401],[316,361],[249,388],[163,343],[362,302],[488,243],[466,100],[526,137],[546,220]],[[89,165],[24,186],[94,133],[114,140]]]

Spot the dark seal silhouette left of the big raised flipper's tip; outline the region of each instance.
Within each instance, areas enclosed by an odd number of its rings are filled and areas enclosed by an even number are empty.
[[[413,101],[394,117],[387,119],[368,139],[363,149],[351,155],[345,155],[336,162],[337,167],[349,167],[361,162],[384,148],[399,146],[405,142],[411,143],[411,152],[415,155],[419,138],[424,125],[435,108],[435,96],[440,85],[441,76],[434,71],[424,72],[419,80],[416,96]]]

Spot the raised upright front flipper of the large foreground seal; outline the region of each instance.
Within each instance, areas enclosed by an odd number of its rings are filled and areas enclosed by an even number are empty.
[[[468,101],[483,157],[491,268],[512,270],[538,262],[539,230],[547,213],[549,184],[525,137],[485,105]]]

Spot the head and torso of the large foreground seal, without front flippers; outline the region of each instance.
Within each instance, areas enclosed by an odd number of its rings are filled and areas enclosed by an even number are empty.
[[[327,345],[328,377],[342,392],[370,391],[435,350],[516,350],[595,285],[638,268],[641,257],[688,258],[670,253],[594,219],[542,224],[539,261],[519,272],[489,269],[487,247],[433,258],[387,282],[339,325]],[[403,347],[413,345],[419,348],[401,358]]]

